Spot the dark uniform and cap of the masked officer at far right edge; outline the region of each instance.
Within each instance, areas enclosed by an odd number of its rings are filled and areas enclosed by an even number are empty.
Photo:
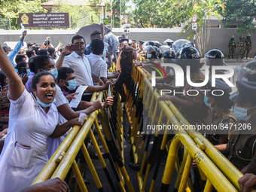
[[[236,81],[236,87],[238,92],[230,96],[233,102],[250,102],[256,99],[256,83],[239,80]],[[234,114],[236,114],[235,108]],[[251,129],[248,129],[248,122],[250,122]],[[228,142],[230,150],[228,160],[239,170],[243,169],[251,162],[256,151],[256,119],[248,119],[248,122],[245,123],[244,120],[240,119],[236,123],[236,126],[233,127]],[[245,130],[239,130],[240,126],[246,126],[247,128]]]

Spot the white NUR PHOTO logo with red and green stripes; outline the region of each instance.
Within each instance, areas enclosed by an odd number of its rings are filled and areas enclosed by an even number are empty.
[[[168,93],[168,94],[172,93],[173,96],[175,96],[175,94],[183,94],[183,95],[187,94],[187,96],[197,96],[200,91],[203,92],[205,95],[206,95],[207,91],[211,91],[211,90],[203,90],[200,88],[200,87],[205,86],[209,81],[209,76],[210,76],[210,72],[209,72],[210,67],[209,66],[203,66],[200,69],[203,71],[206,78],[204,79],[203,82],[196,83],[196,82],[191,81],[193,72],[190,71],[191,70],[190,66],[186,66],[186,70],[185,70],[185,74],[184,74],[184,70],[181,68],[181,66],[178,66],[177,64],[174,64],[174,63],[162,63],[161,66],[154,63],[154,65],[157,66],[160,70],[154,66],[151,66],[151,68],[155,69],[155,71],[152,70],[152,72],[151,72],[152,87],[156,86],[156,72],[158,72],[160,74],[161,78],[163,79],[163,75],[160,72],[160,71],[162,71],[163,74],[166,76],[166,81],[167,81],[168,76],[166,75],[166,72],[163,70],[163,68],[165,68],[165,69],[172,68],[172,71],[174,72],[172,77],[174,77],[176,87],[184,87],[185,86],[184,81],[186,81],[187,84],[190,85],[190,87],[197,88],[194,90],[187,90],[186,92],[184,90],[183,90],[183,92],[175,92],[175,90],[166,90],[166,89],[160,90],[161,96],[166,93]],[[224,72],[224,74],[217,74],[219,71]],[[232,78],[233,75],[234,75],[234,69],[232,68],[232,66],[212,66],[211,67],[212,87],[215,87],[216,79],[223,80],[230,87],[235,87],[230,82],[230,78]],[[184,78],[184,77],[186,77],[186,78]],[[222,95],[224,95],[224,91],[223,90],[212,90],[212,95],[213,96],[222,96]]]

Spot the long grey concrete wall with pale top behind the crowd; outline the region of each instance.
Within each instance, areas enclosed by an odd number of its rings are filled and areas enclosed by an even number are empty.
[[[227,43],[230,40],[231,35],[235,36],[235,40],[239,39],[239,34],[236,33],[237,29],[227,29],[224,28],[222,23],[218,23],[218,20],[212,20],[212,24],[220,25],[220,28],[212,28],[209,38],[209,44],[207,50],[211,49],[219,49],[224,55],[227,57]],[[49,36],[51,44],[56,46],[59,44],[59,41],[62,44],[68,44],[71,42],[72,36],[74,36],[78,32],[78,29],[72,30],[29,30],[28,35],[26,37],[26,42],[32,41],[37,44],[42,44],[44,39]],[[114,28],[113,32],[115,35],[120,36],[123,33],[123,29]],[[171,38],[172,40],[178,40],[180,38],[186,38],[186,34],[180,36],[179,32],[181,32],[181,28],[173,28],[173,29],[142,29],[142,28],[131,28],[130,33],[128,34],[129,39],[136,39],[137,41],[148,41],[155,40],[160,41],[163,44],[163,41],[166,38]],[[5,41],[18,41],[20,38],[20,31],[7,31],[0,30],[0,43],[3,44]],[[89,34],[90,35],[90,34]],[[256,51],[256,46],[254,40],[256,40],[256,35],[251,35],[252,40],[252,50],[249,56],[254,56]],[[190,39],[190,41],[194,41]],[[88,44],[89,42],[87,42]],[[197,46],[197,43],[196,43]],[[236,55],[236,53],[235,53]]]

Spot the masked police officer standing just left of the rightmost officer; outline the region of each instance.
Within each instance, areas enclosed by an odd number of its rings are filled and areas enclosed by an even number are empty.
[[[204,97],[204,102],[209,107],[206,126],[210,127],[206,129],[206,138],[212,145],[221,145],[228,142],[231,128],[237,121],[235,114],[230,111],[233,106],[230,100],[232,90],[218,79],[215,80],[215,87],[212,87],[212,78],[209,78],[206,89],[209,90]]]

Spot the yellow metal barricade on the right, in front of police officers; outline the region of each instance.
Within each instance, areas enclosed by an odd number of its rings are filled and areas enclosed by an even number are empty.
[[[162,175],[160,191],[167,191],[169,189],[174,169],[178,172],[175,191],[194,191],[190,177],[192,160],[197,162],[200,175],[206,181],[204,191],[212,191],[213,187],[218,191],[240,191],[238,179],[242,176],[242,173],[201,133],[195,130],[182,129],[185,125],[190,127],[190,124],[178,109],[175,108],[172,102],[157,102],[160,94],[151,87],[151,75],[140,67],[137,69],[134,67],[132,75],[133,90],[130,90],[130,92],[136,94],[129,94],[126,102],[126,111],[129,115],[130,122],[133,122],[130,131],[133,159],[135,163],[141,163],[141,169],[137,172],[139,190],[145,191],[145,187],[149,184],[148,175],[151,170],[151,156],[146,161],[148,152],[154,154],[154,152],[160,151],[149,191],[159,190],[154,188],[154,184],[160,166],[160,158],[163,157],[164,150],[167,149],[168,157]],[[139,108],[137,105],[139,105]],[[147,115],[148,119],[151,120],[149,124],[154,125],[154,122],[157,122],[158,125],[162,123],[165,123],[166,126],[175,125],[177,129],[175,130],[173,139],[168,139],[168,130],[165,130],[163,136],[159,135],[159,130],[154,133],[154,136],[151,133],[147,134],[143,132],[141,126],[142,120],[140,119],[142,118],[141,108],[146,111],[144,115]],[[161,145],[157,146],[153,144],[151,151],[148,151],[148,144],[151,142],[151,137],[154,137],[154,144],[158,140]],[[146,146],[144,146],[145,143]],[[178,150],[181,145],[184,147],[184,156],[183,162],[180,165]],[[145,176],[142,175],[142,172],[145,173]]]

